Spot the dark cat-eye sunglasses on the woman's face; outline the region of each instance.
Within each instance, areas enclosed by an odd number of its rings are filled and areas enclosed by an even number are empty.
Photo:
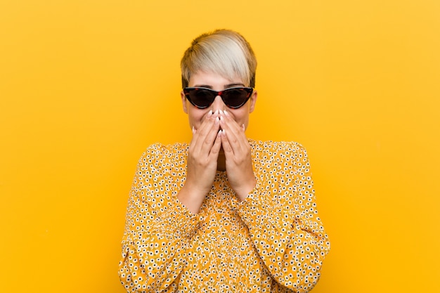
[[[233,87],[229,89],[224,89],[223,91],[214,91],[213,89],[208,88],[185,88],[183,89],[183,93],[185,93],[186,98],[190,101],[191,104],[195,105],[195,107],[199,109],[208,108],[214,100],[216,96],[220,96],[223,103],[227,105],[229,108],[237,109],[242,105],[245,105],[247,100],[249,100],[253,88],[247,88],[244,86]]]

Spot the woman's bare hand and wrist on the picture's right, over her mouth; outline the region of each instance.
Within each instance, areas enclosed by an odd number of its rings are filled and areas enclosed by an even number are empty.
[[[229,185],[239,200],[245,200],[247,194],[257,184],[252,169],[251,148],[245,136],[245,126],[235,122],[226,111],[221,111],[220,126]]]

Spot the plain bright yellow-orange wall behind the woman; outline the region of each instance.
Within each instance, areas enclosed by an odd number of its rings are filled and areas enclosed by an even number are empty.
[[[0,1],[0,292],[124,292],[141,152],[189,141],[179,60],[257,53],[248,136],[309,150],[332,241],[313,292],[440,292],[440,2]]]

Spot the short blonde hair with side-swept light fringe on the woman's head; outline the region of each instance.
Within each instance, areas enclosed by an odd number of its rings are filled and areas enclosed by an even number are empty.
[[[227,79],[240,78],[255,87],[257,58],[250,44],[238,32],[214,30],[195,38],[181,60],[182,88],[198,71],[214,72]]]

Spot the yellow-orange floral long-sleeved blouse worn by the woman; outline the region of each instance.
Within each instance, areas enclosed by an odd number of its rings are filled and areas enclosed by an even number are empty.
[[[139,159],[119,278],[127,292],[309,292],[330,249],[306,150],[252,141],[257,185],[239,202],[217,171],[199,214],[177,194],[189,145],[151,145]]]

